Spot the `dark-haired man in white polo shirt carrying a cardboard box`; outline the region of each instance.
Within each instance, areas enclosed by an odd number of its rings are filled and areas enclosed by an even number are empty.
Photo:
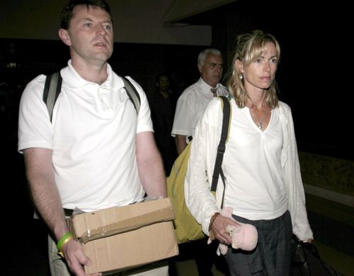
[[[60,71],[62,90],[52,121],[42,100],[45,76],[40,75],[21,97],[18,151],[23,152],[35,207],[51,231],[51,275],[83,276],[84,265],[92,261],[69,232],[63,208],[92,211],[128,205],[145,193],[165,197],[166,181],[147,97],[130,78],[140,97],[137,114],[122,78],[108,64],[113,52],[108,4],[68,1],[59,37],[71,59]],[[139,275],[168,275],[167,265],[146,269]]]

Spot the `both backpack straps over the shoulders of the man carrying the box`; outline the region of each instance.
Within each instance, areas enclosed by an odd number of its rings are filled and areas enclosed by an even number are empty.
[[[139,114],[140,109],[140,95],[137,92],[137,89],[132,84],[130,80],[126,77],[121,77],[124,83],[124,88],[127,91],[127,95],[129,96],[130,101],[134,105],[134,108]],[[55,102],[57,102],[57,98],[62,91],[62,75],[60,72],[55,72],[47,76],[45,78],[45,88],[43,90],[43,101],[47,105],[48,113],[50,116],[50,121],[52,121],[52,114]]]

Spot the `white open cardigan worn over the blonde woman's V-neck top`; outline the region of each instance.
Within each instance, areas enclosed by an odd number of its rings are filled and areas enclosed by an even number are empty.
[[[239,108],[234,100],[231,100],[231,103],[232,109]],[[278,112],[282,125],[283,145],[280,164],[287,189],[288,210],[292,217],[292,232],[303,241],[313,239],[307,220],[291,109],[284,102],[280,102],[279,107],[272,112]],[[217,145],[221,135],[222,116],[222,102],[215,98],[207,105],[202,119],[195,128],[185,176],[185,203],[195,219],[202,224],[202,230],[207,235],[209,235],[210,217],[220,211],[224,192],[224,185],[219,177],[215,196],[210,193]],[[232,119],[236,118],[232,116]]]

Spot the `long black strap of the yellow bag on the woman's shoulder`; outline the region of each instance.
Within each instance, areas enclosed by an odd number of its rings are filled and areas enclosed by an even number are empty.
[[[217,157],[215,160],[214,172],[212,174],[212,188],[211,191],[217,191],[217,181],[219,180],[219,175],[222,176],[222,181],[224,183],[224,173],[222,172],[222,160],[224,158],[224,152],[226,149],[227,138],[229,136],[229,125],[231,121],[231,103],[229,99],[225,96],[220,96],[222,99],[222,133],[220,137],[219,145],[217,146]],[[224,189],[225,193],[225,189]],[[224,204],[224,193],[222,195],[222,205]]]

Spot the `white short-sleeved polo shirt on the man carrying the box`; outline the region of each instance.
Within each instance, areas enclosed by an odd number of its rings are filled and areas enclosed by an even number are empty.
[[[135,111],[124,83],[108,66],[108,79],[98,85],[84,80],[71,61],[61,71],[63,82],[50,123],[42,100],[45,76],[23,91],[18,121],[18,150],[53,150],[55,181],[64,208],[85,211],[127,205],[144,196],[135,156],[136,133],[152,131],[149,104],[137,88],[141,107]]]

